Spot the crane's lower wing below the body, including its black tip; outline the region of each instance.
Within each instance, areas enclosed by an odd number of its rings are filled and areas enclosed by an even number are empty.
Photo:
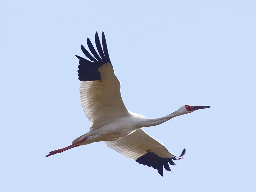
[[[141,128],[115,141],[106,141],[106,144],[124,156],[136,160],[139,164],[157,169],[161,176],[164,175],[163,166],[167,171],[171,171],[169,164],[175,165],[172,160],[182,159],[186,152],[184,149],[180,157],[173,155],[163,143],[148,135]]]

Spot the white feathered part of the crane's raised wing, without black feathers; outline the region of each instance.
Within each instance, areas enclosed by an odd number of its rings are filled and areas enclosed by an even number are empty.
[[[128,116],[129,112],[121,96],[121,84],[111,63],[98,69],[100,81],[83,81],[80,98],[86,117],[94,129],[108,124],[112,119]]]

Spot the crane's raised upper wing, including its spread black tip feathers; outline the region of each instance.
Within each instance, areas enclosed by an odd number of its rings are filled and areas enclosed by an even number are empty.
[[[121,84],[114,73],[108,56],[105,35],[102,32],[102,45],[98,33],[95,34],[95,43],[99,54],[87,38],[87,44],[93,57],[83,45],[81,49],[89,59],[80,56],[78,79],[81,81],[80,98],[86,117],[92,126],[97,128],[114,118],[127,116],[128,109],[121,96]],[[100,55],[100,56],[99,56]],[[90,61],[91,60],[91,61]]]

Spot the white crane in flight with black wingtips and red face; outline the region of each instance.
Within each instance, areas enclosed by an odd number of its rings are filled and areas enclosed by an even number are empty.
[[[79,59],[81,103],[92,126],[89,132],[75,139],[72,145],[51,151],[46,157],[81,145],[105,141],[108,147],[140,164],[152,166],[163,176],[163,166],[167,171],[171,171],[169,164],[175,165],[172,160],[182,159],[186,150],[184,149],[179,157],[173,155],[163,143],[148,135],[141,127],[159,125],[173,117],[210,106],[185,105],[167,116],[156,119],[132,113],[124,105],[121,84],[115,76],[108,56],[104,32],[102,32],[103,50],[97,32],[95,43],[99,54],[87,38],[88,47],[94,57],[83,45],[81,49],[89,60],[76,55]]]

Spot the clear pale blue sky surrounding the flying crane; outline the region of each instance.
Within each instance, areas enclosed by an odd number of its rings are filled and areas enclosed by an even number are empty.
[[[255,191],[255,1],[0,1],[1,191]],[[90,127],[80,44],[104,31],[129,110],[149,118],[211,108],[144,130],[179,156],[172,172],[104,142],[64,148]]]

